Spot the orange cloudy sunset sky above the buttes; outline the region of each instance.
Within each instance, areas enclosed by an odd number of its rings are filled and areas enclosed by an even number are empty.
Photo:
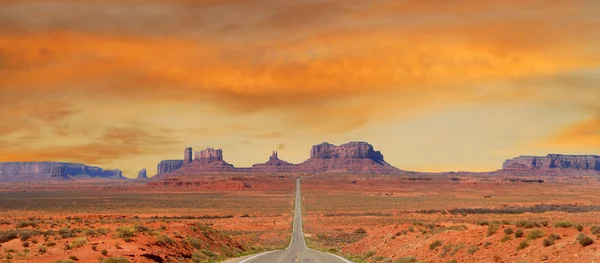
[[[600,1],[0,0],[0,161],[600,154]]]

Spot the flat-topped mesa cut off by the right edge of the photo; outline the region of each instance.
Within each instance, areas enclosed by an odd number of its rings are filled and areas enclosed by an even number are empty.
[[[600,156],[561,154],[520,156],[506,160],[502,165],[503,170],[554,168],[600,171]]]

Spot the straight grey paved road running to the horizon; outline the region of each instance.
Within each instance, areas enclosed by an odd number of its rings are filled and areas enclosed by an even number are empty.
[[[300,206],[300,179],[296,181],[296,204],[294,211],[294,230],[290,246],[286,250],[258,254],[237,263],[352,263],[341,257],[315,251],[306,247],[302,232],[302,208]]]

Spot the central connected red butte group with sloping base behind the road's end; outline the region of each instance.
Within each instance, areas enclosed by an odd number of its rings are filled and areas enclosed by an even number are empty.
[[[265,163],[248,168],[236,168],[223,160],[223,150],[206,148],[194,153],[186,148],[182,161],[161,161],[158,175],[195,174],[204,172],[246,173],[397,173],[401,170],[389,165],[379,151],[366,142],[351,142],[335,146],[322,143],[312,147],[310,158],[300,164],[279,159],[274,151]]]

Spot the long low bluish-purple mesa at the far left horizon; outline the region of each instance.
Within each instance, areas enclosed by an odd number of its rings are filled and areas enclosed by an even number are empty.
[[[9,162],[0,163],[0,182],[51,180],[124,179],[120,170],[104,170],[81,163]]]

